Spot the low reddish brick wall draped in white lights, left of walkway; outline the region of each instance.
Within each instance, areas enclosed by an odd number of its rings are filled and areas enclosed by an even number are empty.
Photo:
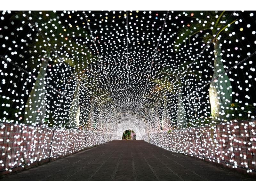
[[[0,173],[67,156],[113,139],[116,139],[115,134],[99,131],[5,123],[0,129]]]

